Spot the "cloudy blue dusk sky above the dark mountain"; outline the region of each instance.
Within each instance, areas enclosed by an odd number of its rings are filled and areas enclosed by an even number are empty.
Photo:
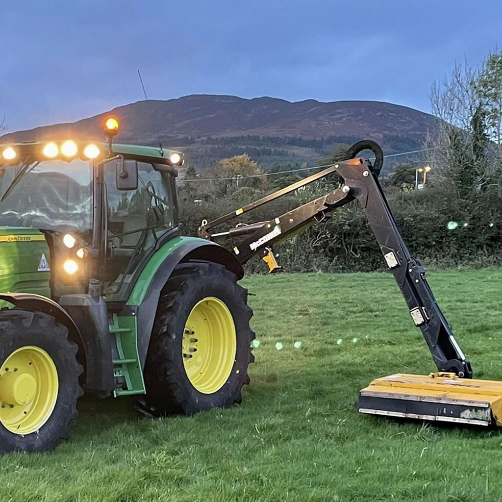
[[[429,111],[455,60],[502,45],[500,0],[2,0],[9,131],[186,94]]]

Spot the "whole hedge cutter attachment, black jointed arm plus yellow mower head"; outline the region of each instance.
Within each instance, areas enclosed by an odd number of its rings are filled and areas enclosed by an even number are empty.
[[[355,158],[365,149],[373,151],[374,164]],[[403,241],[379,183],[382,149],[372,141],[363,141],[351,147],[347,157],[347,160],[214,221],[204,220],[199,227],[199,235],[209,239],[240,237],[238,243],[232,245],[235,257],[244,264],[259,255],[268,264],[269,271],[273,272],[279,268],[272,250],[274,244],[308,226],[322,223],[336,208],[357,200],[366,214],[387,266],[403,293],[413,322],[422,331],[438,368],[438,372],[426,376],[396,373],[373,380],[359,393],[359,412],[475,425],[496,423],[502,426],[502,382],[472,379],[471,365],[434,298],[425,279],[424,268],[411,256]],[[333,173],[339,175],[341,182],[326,195],[267,221],[240,224],[223,232],[212,232],[217,225]]]

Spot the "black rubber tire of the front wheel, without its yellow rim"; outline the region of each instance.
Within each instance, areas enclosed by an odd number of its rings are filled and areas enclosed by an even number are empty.
[[[15,434],[0,423],[0,454],[52,449],[68,437],[70,420],[77,417],[76,403],[82,395],[79,386],[82,366],[76,360],[77,345],[68,340],[67,328],[42,312],[0,311],[0,366],[15,350],[29,345],[45,350],[56,366],[56,404],[48,420],[31,434]]]

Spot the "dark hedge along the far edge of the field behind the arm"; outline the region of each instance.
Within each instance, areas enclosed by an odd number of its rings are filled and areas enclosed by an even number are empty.
[[[497,193],[487,191],[461,199],[442,187],[411,192],[390,188],[388,192],[404,241],[424,265],[479,268],[502,263],[502,198]],[[185,232],[196,234],[202,218],[215,219],[234,211],[241,202],[248,203],[263,195],[256,188],[243,187],[228,197],[200,206],[184,200],[181,219],[186,224]],[[231,220],[221,229],[228,229],[236,222],[272,219],[319,195],[315,189],[289,194]],[[448,230],[451,221],[458,225]],[[221,243],[231,248],[238,241],[237,237]],[[274,250],[283,270],[289,272],[367,272],[387,268],[364,211],[355,202],[333,211],[326,222],[310,227]],[[245,268],[247,273],[267,271],[258,259]]]

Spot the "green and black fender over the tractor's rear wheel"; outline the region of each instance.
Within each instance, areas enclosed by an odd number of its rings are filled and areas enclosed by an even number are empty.
[[[233,272],[238,280],[244,276],[242,265],[235,256],[210,240],[178,236],[161,246],[142,270],[126,303],[137,318],[137,344],[142,368],[145,367],[162,288],[176,266],[189,260],[219,263]]]

